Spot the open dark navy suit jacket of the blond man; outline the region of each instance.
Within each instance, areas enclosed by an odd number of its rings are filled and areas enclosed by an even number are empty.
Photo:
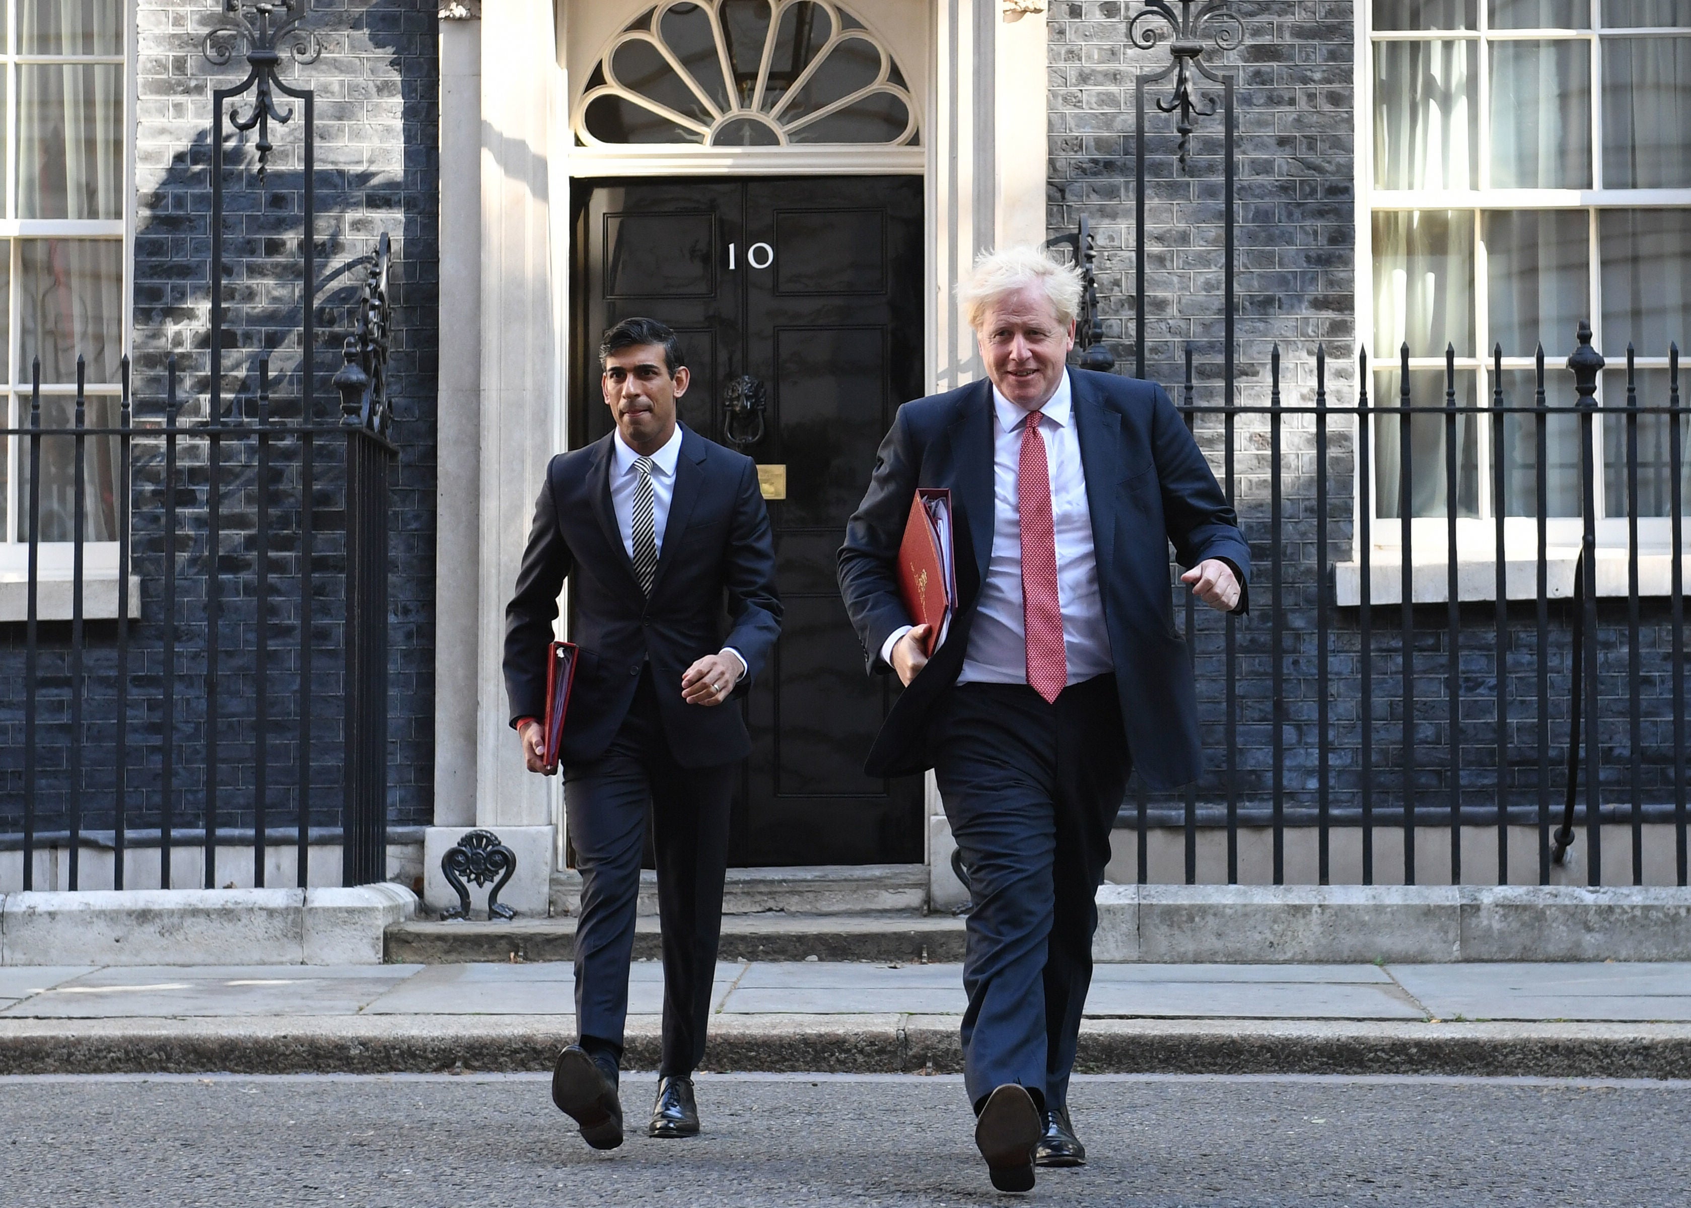
[[[1201,748],[1192,662],[1174,628],[1168,543],[1196,565],[1226,558],[1241,589],[1251,555],[1216,475],[1160,386],[1070,369],[1075,433],[1092,513],[1104,628],[1121,721],[1152,788],[1197,780]],[[869,751],[866,771],[896,777],[932,766],[927,719],[957,680],[993,555],[993,387],[972,382],[898,409],[874,477],[839,552],[840,594],[871,672],[891,668],[881,646],[910,624],[898,596],[898,543],[917,487],[950,487],[959,614],[945,645],[905,689]],[[1238,611],[1246,606],[1241,590]]]

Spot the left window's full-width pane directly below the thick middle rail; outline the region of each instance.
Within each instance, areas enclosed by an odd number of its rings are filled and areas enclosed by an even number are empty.
[[[76,355],[90,382],[117,382],[123,355],[123,244],[115,239],[27,239],[19,244],[19,365],[29,382],[74,382]]]

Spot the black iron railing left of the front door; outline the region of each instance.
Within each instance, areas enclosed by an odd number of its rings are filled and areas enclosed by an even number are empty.
[[[379,264],[386,272],[386,257]],[[88,423],[78,382],[73,423],[47,426],[37,364],[27,423],[3,430],[29,465],[24,641],[0,648],[22,722],[17,771],[0,792],[0,846],[22,851],[22,888],[37,888],[44,846],[63,849],[63,888],[125,888],[137,839],[157,848],[157,880],[147,881],[171,888],[189,836],[206,888],[232,878],[262,887],[277,843],[294,848],[299,887],[311,844],[337,839],[342,883],[386,876],[394,448],[386,394],[372,404],[367,389],[375,355],[367,340],[348,340],[338,420],[303,408],[277,418],[269,355],[249,398],[208,403],[206,418],[188,423],[172,359],[154,418],[137,420],[125,357],[113,423]],[[57,491],[69,496],[68,531],[44,516],[44,452],[56,453],[47,477],[71,484]],[[91,452],[115,467],[98,491]],[[134,508],[135,496],[149,506]],[[98,535],[91,508],[105,513]],[[93,580],[90,553],[113,546],[115,582]],[[68,580],[42,567],[44,552],[64,550]],[[44,618],[42,589],[64,582],[68,618]],[[90,618],[91,582],[115,594],[115,614]],[[250,873],[218,866],[232,837],[250,843]],[[90,883],[85,848],[107,846],[113,871]]]

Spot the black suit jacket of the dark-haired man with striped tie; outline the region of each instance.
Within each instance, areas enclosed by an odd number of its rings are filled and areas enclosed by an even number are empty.
[[[563,761],[604,755],[627,716],[648,658],[676,761],[702,768],[742,760],[751,739],[741,709],[683,702],[681,672],[703,655],[734,646],[746,658],[734,695],[744,695],[781,631],[774,545],[758,469],[749,457],[681,426],[675,494],[648,599],[610,504],[612,440],[607,435],[560,453],[546,467],[516,596],[506,607],[511,722],[538,719],[546,707],[546,645],[558,592],[572,575],[570,636],[580,656],[563,726]]]

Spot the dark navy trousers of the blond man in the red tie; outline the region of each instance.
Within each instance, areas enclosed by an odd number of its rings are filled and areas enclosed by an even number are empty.
[[[1020,1083],[1067,1106],[1092,985],[1092,902],[1131,760],[1116,677],[1047,704],[1023,684],[962,684],[937,706],[933,775],[969,873],[962,980],[971,1103]]]

